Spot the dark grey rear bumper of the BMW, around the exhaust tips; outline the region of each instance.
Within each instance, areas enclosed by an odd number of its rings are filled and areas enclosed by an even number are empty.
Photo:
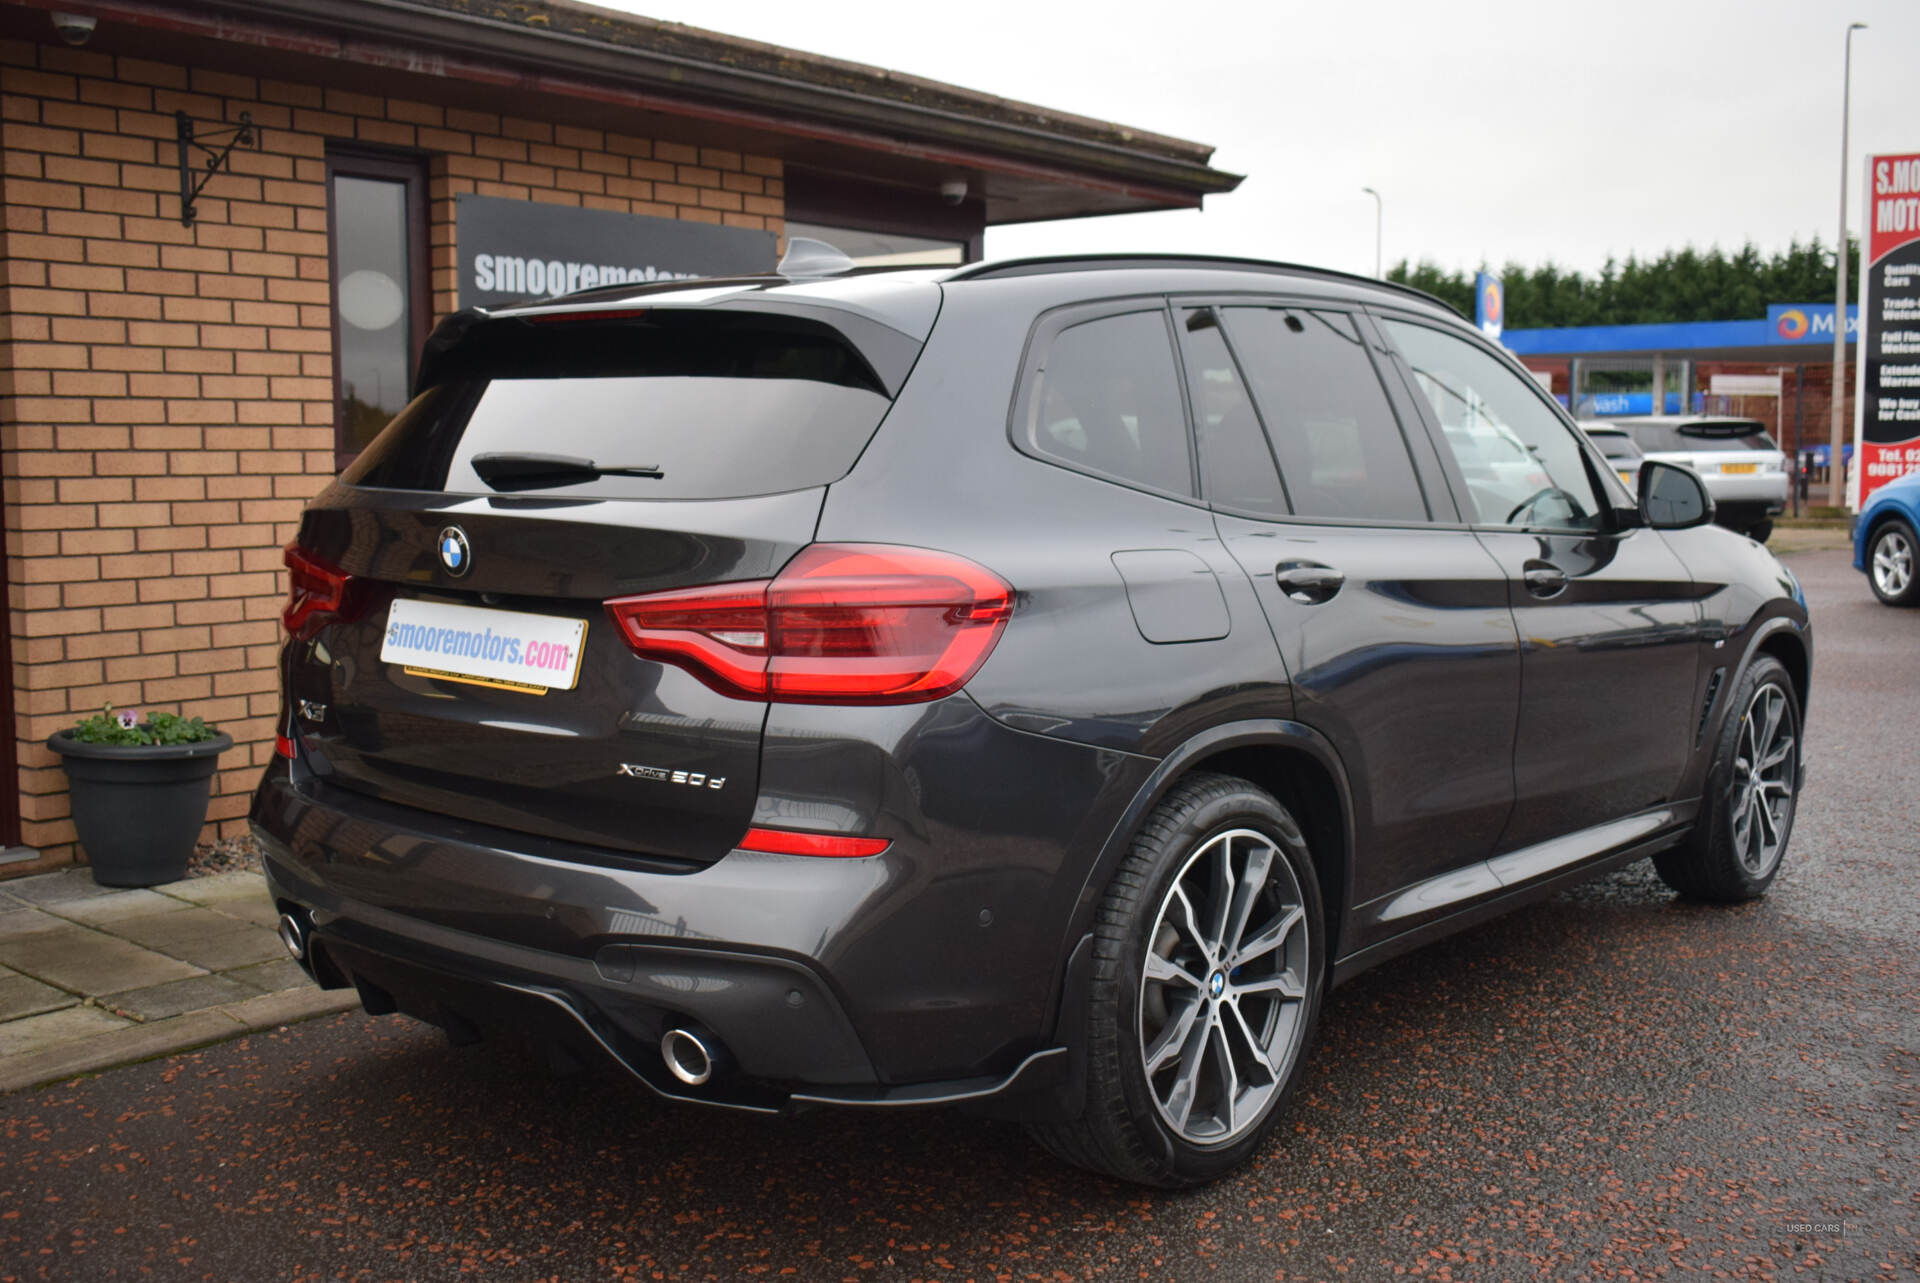
[[[854,820],[893,835],[870,859],[557,859],[564,843],[334,787],[305,759],[267,768],[252,822],[275,901],[311,920],[317,980],[357,985],[369,1010],[564,1033],[662,1095],[743,1108],[1044,1087],[1085,862],[1137,772],[970,701],[912,716],[910,755],[866,759],[877,780],[924,772],[883,789],[900,811]],[[1012,822],[1014,780],[1052,786],[1031,824]],[[764,789],[760,805],[781,807]],[[674,1026],[716,1035],[733,1072],[684,1087],[659,1054]]]

